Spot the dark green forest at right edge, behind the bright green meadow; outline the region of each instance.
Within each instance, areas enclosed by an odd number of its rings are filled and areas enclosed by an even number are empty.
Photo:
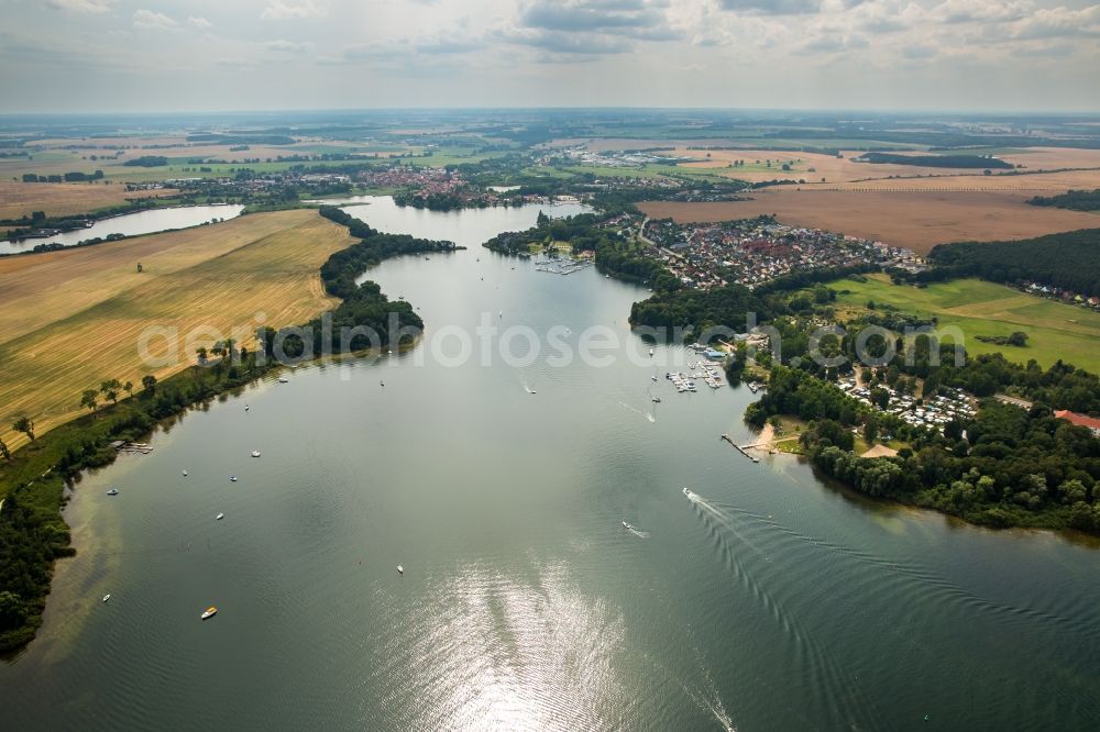
[[[1082,229],[1016,242],[939,244],[928,254],[935,268],[917,282],[981,277],[993,282],[1040,282],[1100,296],[1100,229]]]

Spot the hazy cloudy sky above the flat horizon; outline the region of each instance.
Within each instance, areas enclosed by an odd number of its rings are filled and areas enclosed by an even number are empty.
[[[1097,0],[0,0],[0,111],[1100,109]]]

